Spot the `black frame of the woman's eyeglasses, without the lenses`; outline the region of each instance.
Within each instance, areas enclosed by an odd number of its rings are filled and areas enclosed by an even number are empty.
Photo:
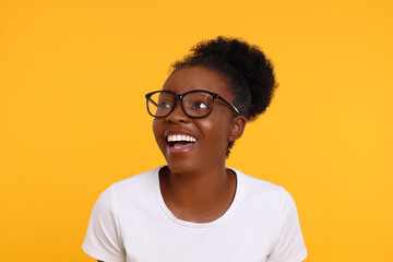
[[[189,114],[187,114],[186,109],[184,109],[184,104],[183,104],[183,97],[187,95],[187,94],[190,94],[190,93],[196,93],[196,92],[202,92],[202,93],[206,93],[206,94],[210,94],[211,96],[213,96],[213,105],[212,105],[212,109],[205,115],[205,116],[202,116],[202,117],[193,117],[193,116],[190,116]],[[171,107],[171,109],[168,111],[168,114],[164,115],[164,116],[154,116],[150,110],[148,110],[148,102],[150,102],[150,98],[152,97],[152,95],[156,94],[156,93],[169,93],[171,95],[175,96],[175,102],[174,102],[174,106]],[[215,106],[215,100],[216,98],[219,98],[221,100],[223,100],[225,104],[227,104],[238,116],[240,115],[240,111],[239,109],[236,108],[236,106],[234,106],[231,103],[229,103],[227,99],[225,99],[224,97],[222,97],[221,95],[216,94],[216,93],[213,93],[213,92],[210,92],[210,91],[204,91],[204,90],[192,90],[192,91],[188,91],[183,94],[176,94],[175,92],[172,91],[154,91],[154,92],[151,92],[151,93],[147,93],[145,95],[146,97],[146,107],[147,107],[147,112],[148,115],[151,115],[152,117],[156,117],[156,118],[163,118],[163,117],[167,117],[169,116],[175,107],[176,107],[176,103],[177,100],[180,100],[181,102],[181,109],[183,110],[183,112],[186,114],[186,116],[190,117],[190,118],[204,118],[204,117],[207,117],[214,109],[214,106]],[[158,106],[158,105],[156,105]]]

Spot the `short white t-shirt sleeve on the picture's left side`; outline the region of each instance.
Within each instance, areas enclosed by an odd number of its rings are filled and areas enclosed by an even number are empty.
[[[95,203],[82,249],[100,261],[126,262],[112,194],[109,187]]]

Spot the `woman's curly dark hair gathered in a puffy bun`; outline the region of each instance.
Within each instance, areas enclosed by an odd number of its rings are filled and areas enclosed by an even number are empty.
[[[171,66],[171,73],[195,66],[224,76],[235,96],[235,106],[247,121],[266,110],[277,87],[272,62],[259,47],[239,38],[218,36],[196,44],[190,55]],[[227,156],[233,146],[234,142],[228,143]]]

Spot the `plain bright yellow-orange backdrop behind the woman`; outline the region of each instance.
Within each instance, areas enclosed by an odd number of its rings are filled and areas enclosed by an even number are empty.
[[[99,193],[164,164],[144,94],[239,36],[281,84],[228,166],[295,198],[307,261],[393,261],[392,2],[0,1],[3,261],[94,261]],[[152,250],[153,251],[153,250]]]

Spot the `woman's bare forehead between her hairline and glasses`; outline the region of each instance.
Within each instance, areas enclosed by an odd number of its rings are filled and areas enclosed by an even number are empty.
[[[231,97],[224,76],[204,67],[190,67],[176,71],[164,83],[163,90],[177,94],[192,90],[205,90],[227,98]]]

